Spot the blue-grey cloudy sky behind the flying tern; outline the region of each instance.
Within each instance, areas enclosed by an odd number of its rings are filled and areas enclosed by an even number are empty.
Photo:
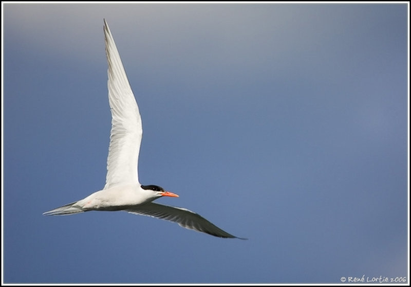
[[[407,5],[2,5],[4,282],[408,276]],[[103,18],[142,116],[140,182],[248,241],[42,216],[105,184]]]

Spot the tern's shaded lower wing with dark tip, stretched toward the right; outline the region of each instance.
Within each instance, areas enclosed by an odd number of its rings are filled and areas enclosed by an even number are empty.
[[[178,223],[181,227],[204,232],[216,237],[239,238],[218,228],[207,219],[201,217],[199,214],[181,207],[174,207],[150,202],[124,209],[124,211],[164,220],[170,220]]]

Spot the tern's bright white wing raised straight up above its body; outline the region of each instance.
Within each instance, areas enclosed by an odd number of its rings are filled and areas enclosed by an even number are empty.
[[[143,129],[136,99],[105,20],[104,36],[108,63],[108,100],[112,117],[104,186],[107,189],[118,184],[138,183],[137,164]]]

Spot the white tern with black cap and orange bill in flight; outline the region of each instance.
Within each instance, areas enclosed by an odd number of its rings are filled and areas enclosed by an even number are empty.
[[[151,216],[178,223],[221,238],[238,238],[218,228],[199,214],[181,207],[153,203],[162,196],[178,197],[156,185],[138,181],[138,155],[142,137],[140,112],[128,83],[113,36],[104,20],[105,49],[108,62],[108,99],[111,108],[110,146],[104,189],[85,199],[43,213],[68,215],[85,211],[118,211]],[[243,239],[243,238],[240,238]]]

